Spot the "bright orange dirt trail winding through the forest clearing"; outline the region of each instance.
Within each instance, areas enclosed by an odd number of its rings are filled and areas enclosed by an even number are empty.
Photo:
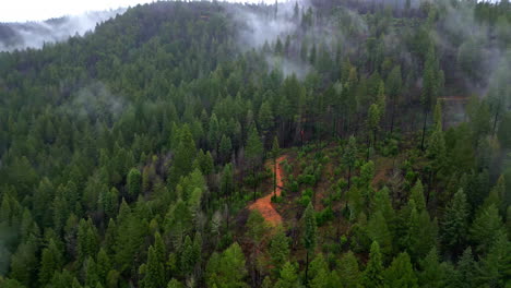
[[[281,156],[277,158],[277,161],[276,161],[277,171],[276,171],[276,191],[275,192],[278,196],[281,195],[281,191],[283,187],[281,163],[284,161],[285,159],[286,159],[286,156]],[[273,164],[271,166],[273,170]],[[273,207],[272,195],[273,195],[273,191],[271,191],[271,193],[265,195],[264,197],[258,199],[254,203],[252,203],[249,206],[249,209],[258,209],[262,214],[264,219],[266,219],[266,221],[269,221],[273,226],[276,226],[282,223],[282,216]]]

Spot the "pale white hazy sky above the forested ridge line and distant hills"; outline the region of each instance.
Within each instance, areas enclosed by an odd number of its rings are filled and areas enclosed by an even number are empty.
[[[234,1],[234,0],[229,0]],[[117,9],[153,2],[152,0],[2,0],[0,22],[47,20],[75,15],[86,11]],[[273,2],[272,0],[242,0],[239,2]],[[280,1],[281,2],[281,1]]]

